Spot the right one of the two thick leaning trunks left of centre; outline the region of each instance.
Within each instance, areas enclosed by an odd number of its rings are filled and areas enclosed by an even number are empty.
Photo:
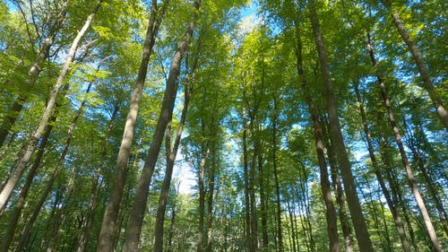
[[[140,233],[142,231],[143,216],[146,209],[146,201],[148,199],[149,186],[151,184],[152,173],[156,166],[157,159],[159,157],[160,146],[163,142],[163,136],[165,135],[165,129],[168,122],[173,117],[174,103],[177,95],[178,77],[180,74],[180,66],[182,58],[185,55],[185,51],[190,44],[190,40],[193,37],[194,24],[198,17],[198,10],[201,4],[201,0],[195,0],[193,3],[194,11],[192,13],[191,20],[188,24],[188,28],[185,31],[183,41],[180,43],[177,52],[171,61],[169,68],[169,75],[167,80],[167,86],[163,96],[162,106],[160,109],[158,123],[154,134],[152,135],[152,143],[150,150],[148,151],[148,157],[144,162],[142,169],[142,175],[139,179],[135,201],[130,213],[129,222],[126,229],[125,244],[123,251],[137,251],[138,242],[140,239]]]

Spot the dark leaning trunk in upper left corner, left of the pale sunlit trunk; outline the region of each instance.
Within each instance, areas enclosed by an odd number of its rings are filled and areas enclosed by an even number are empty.
[[[57,13],[53,27],[49,30],[48,36],[44,39],[42,46],[39,49],[39,55],[34,59],[33,64],[28,71],[28,76],[26,77],[24,83],[26,87],[32,87],[40,72],[42,71],[43,64],[49,55],[50,48],[56,39],[57,33],[61,30],[63,23],[65,21],[66,8],[68,1],[62,4],[62,9]],[[27,92],[21,91],[19,96],[14,100],[13,105],[6,112],[2,125],[0,126],[0,147],[4,144],[6,136],[9,134],[15,121],[20,116],[23,109],[23,104],[28,100],[29,94]],[[1,204],[1,201],[0,201]]]

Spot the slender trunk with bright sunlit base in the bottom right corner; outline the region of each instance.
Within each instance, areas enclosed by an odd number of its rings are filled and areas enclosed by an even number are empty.
[[[369,55],[370,55],[370,59],[372,61],[372,65],[374,66],[374,68],[376,70],[376,60],[375,60],[374,49],[373,49],[373,46],[372,46],[372,40],[371,40],[370,35],[368,33],[367,33],[367,35],[368,35],[367,49],[369,51]],[[401,142],[400,130],[399,130],[398,126],[397,126],[397,123],[395,121],[395,117],[393,115],[392,104],[391,104],[391,100],[389,99],[389,96],[387,94],[385,83],[383,81],[383,78],[379,74],[376,74],[376,78],[378,80],[378,85],[380,87],[380,92],[381,92],[381,96],[383,98],[384,105],[385,105],[385,107],[387,109],[389,122],[390,122],[390,124],[392,126],[393,135],[395,136],[395,142],[397,143],[398,148],[400,150],[401,161],[402,161],[403,166],[405,168],[406,175],[408,176],[409,186],[410,186],[410,188],[412,190],[412,194],[413,194],[413,196],[414,196],[414,198],[415,198],[415,200],[417,202],[418,209],[420,210],[420,213],[422,214],[422,217],[423,217],[423,220],[424,220],[424,223],[425,223],[426,233],[427,233],[429,239],[431,240],[431,243],[432,243],[435,251],[441,252],[441,251],[443,251],[443,249],[442,249],[442,247],[441,247],[441,245],[439,243],[439,240],[437,238],[437,234],[435,232],[433,222],[431,222],[431,218],[429,216],[429,213],[427,212],[426,204],[423,201],[423,197],[420,194],[420,190],[418,189],[417,181],[414,178],[414,174],[413,174],[412,168],[410,167],[408,154],[405,152],[403,143]]]

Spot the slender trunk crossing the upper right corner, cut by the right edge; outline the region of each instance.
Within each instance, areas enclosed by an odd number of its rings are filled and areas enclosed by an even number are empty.
[[[392,1],[383,0],[383,4],[391,12],[393,23],[395,24],[395,27],[399,31],[401,39],[404,40],[404,42],[409,48],[410,53],[412,54],[412,57],[416,61],[418,72],[420,73],[420,76],[423,79],[423,88],[427,91],[429,98],[433,100],[437,116],[440,118],[445,128],[448,129],[448,111],[446,111],[446,109],[444,108],[444,104],[442,103],[440,93],[435,90],[435,86],[433,84],[433,81],[431,80],[431,75],[426,69],[425,60],[420,50],[418,49],[417,44],[414,41],[412,41],[412,39],[410,39],[409,33],[404,27],[403,21],[401,20],[400,13],[398,13],[398,11],[395,9],[392,3],[389,2]]]

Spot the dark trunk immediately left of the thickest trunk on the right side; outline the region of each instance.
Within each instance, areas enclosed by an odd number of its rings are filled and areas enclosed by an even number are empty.
[[[317,161],[319,163],[320,174],[321,174],[321,190],[323,195],[323,202],[325,203],[325,217],[327,221],[327,232],[330,241],[330,251],[339,251],[339,236],[338,236],[338,224],[336,222],[336,210],[332,202],[332,189],[330,186],[329,174],[327,170],[327,163],[325,161],[324,144],[323,144],[323,130],[321,123],[319,121],[319,114],[317,109],[315,109],[313,100],[309,94],[308,84],[306,82],[306,76],[304,73],[303,60],[302,60],[302,39],[300,38],[300,31],[298,30],[298,24],[296,23],[296,37],[297,37],[297,73],[302,83],[302,89],[305,94],[306,104],[308,105],[308,110],[311,114],[311,120],[313,121],[314,127],[314,142],[317,152]],[[274,99],[274,106],[276,104]],[[275,122],[275,120],[273,120]],[[275,128],[275,127],[274,127]],[[274,145],[275,146],[275,145]],[[275,152],[274,152],[275,153]],[[274,170],[274,175],[275,170]],[[280,216],[280,214],[279,214]]]

